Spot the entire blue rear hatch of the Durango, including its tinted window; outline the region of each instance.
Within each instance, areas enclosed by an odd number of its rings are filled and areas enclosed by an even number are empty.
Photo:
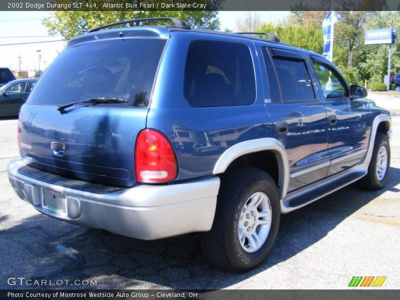
[[[38,80],[19,115],[19,147],[30,166],[111,185],[136,182],[135,140],[166,37],[124,30],[128,38],[114,29],[70,42]],[[103,100],[79,102],[86,99]]]

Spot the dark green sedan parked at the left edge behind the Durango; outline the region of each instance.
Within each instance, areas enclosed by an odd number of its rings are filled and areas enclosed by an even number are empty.
[[[18,115],[37,79],[16,79],[0,87],[0,116]]]

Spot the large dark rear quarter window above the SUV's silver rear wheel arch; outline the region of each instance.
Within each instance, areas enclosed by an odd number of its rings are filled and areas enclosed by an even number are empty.
[[[197,40],[186,59],[184,96],[195,107],[255,101],[254,68],[244,44]]]

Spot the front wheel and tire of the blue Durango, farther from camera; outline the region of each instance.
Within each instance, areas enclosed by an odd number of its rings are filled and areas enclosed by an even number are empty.
[[[385,152],[385,153],[384,153]],[[382,159],[382,155],[385,154],[386,163]],[[378,172],[378,167],[382,168]],[[376,132],[375,142],[373,145],[373,151],[371,161],[369,162],[367,174],[357,181],[357,186],[366,190],[378,190],[386,184],[387,174],[390,166],[390,145],[386,134],[382,132]]]

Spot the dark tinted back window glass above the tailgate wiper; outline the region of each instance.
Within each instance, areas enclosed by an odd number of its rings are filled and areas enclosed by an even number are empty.
[[[110,97],[125,103],[96,106],[148,106],[165,39],[118,39],[66,48],[43,73],[30,104],[65,104]]]

